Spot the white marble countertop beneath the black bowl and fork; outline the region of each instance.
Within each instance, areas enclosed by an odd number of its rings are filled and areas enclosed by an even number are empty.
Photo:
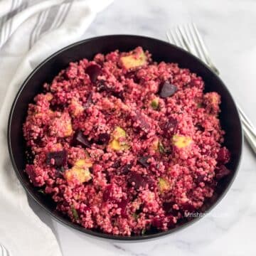
[[[256,1],[123,0],[97,16],[83,38],[132,33],[166,40],[166,29],[193,20],[221,77],[256,125]],[[234,127],[235,129],[235,127]],[[70,255],[255,255],[256,157],[244,145],[240,171],[210,214],[190,227],[149,242],[98,240],[57,223],[31,202]]]

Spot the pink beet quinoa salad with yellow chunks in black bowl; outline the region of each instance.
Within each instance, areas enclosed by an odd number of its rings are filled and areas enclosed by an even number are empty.
[[[84,228],[174,228],[230,174],[220,95],[203,90],[201,77],[142,47],[70,63],[28,106],[25,171]]]

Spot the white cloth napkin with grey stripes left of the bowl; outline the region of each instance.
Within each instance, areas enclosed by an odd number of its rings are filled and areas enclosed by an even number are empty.
[[[33,213],[11,166],[7,121],[16,92],[33,68],[78,41],[111,1],[0,1],[0,255],[61,255],[55,235]]]

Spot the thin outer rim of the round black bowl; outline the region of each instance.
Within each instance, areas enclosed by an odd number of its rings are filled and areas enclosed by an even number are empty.
[[[183,223],[181,225],[179,225],[176,228],[173,229],[169,229],[166,231],[162,231],[159,233],[154,233],[154,234],[149,234],[149,235],[134,235],[134,236],[121,236],[121,235],[110,235],[107,233],[100,233],[94,230],[90,230],[90,229],[86,229],[86,228],[82,228],[82,226],[72,223],[70,220],[66,220],[65,218],[62,218],[58,215],[55,215],[55,213],[53,213],[47,206],[45,206],[43,203],[41,203],[40,200],[38,200],[38,198],[35,196],[34,193],[32,193],[31,191],[29,191],[28,187],[26,186],[26,184],[23,182],[23,177],[20,174],[20,171],[18,171],[18,167],[16,166],[16,162],[14,159],[14,154],[13,151],[11,149],[11,122],[13,119],[13,114],[14,114],[14,109],[16,107],[16,103],[21,95],[21,92],[23,91],[24,87],[26,87],[28,80],[30,80],[31,78],[33,78],[33,75],[43,66],[45,65],[49,60],[55,58],[55,56],[59,55],[60,53],[63,53],[65,50],[68,50],[70,48],[73,48],[74,46],[79,46],[82,45],[83,43],[87,43],[89,41],[94,41],[94,40],[105,40],[107,38],[118,38],[118,37],[129,37],[129,38],[141,38],[141,39],[146,39],[149,41],[155,41],[156,43],[164,43],[166,45],[171,45],[172,47],[176,48],[177,50],[182,51],[183,53],[186,53],[187,55],[190,55],[190,57],[192,58],[196,58],[196,60],[201,63],[201,65],[204,66],[204,68],[206,68],[210,73],[213,73],[213,75],[215,76],[215,78],[217,80],[219,80],[220,84],[225,88],[225,90],[228,92],[230,99],[233,101],[234,106],[235,106],[235,112],[237,112],[236,114],[238,115],[238,119],[239,119],[239,123],[240,123],[240,140],[241,140],[241,147],[240,147],[240,152],[239,152],[239,156],[238,156],[238,164],[236,169],[234,169],[234,174],[233,177],[230,179],[228,186],[226,186],[225,190],[223,191],[223,193],[219,196],[218,200],[215,201],[215,203],[211,204],[210,207],[208,208],[208,210],[205,212],[205,214],[203,215],[199,215],[196,218],[193,218],[192,220],[189,220],[187,223]],[[7,127],[7,140],[8,140],[8,149],[9,149],[9,156],[11,158],[11,164],[14,167],[14,171],[16,173],[16,176],[18,177],[18,181],[21,183],[21,185],[23,186],[23,188],[25,188],[26,193],[28,193],[28,195],[33,198],[33,201],[36,201],[36,203],[38,203],[39,206],[41,206],[41,208],[43,208],[43,210],[45,210],[46,213],[48,213],[48,215],[50,215],[51,217],[53,217],[54,220],[57,220],[58,223],[62,223],[65,226],[68,226],[70,228],[73,228],[74,230],[78,230],[80,231],[80,233],[83,233],[85,235],[92,235],[92,237],[96,237],[96,238],[105,238],[107,240],[116,240],[116,241],[122,241],[122,242],[142,242],[142,241],[147,241],[147,240],[152,240],[152,239],[156,239],[156,238],[160,238],[160,237],[164,237],[166,235],[170,235],[171,233],[176,233],[177,231],[183,230],[183,228],[187,228],[190,225],[193,225],[193,223],[196,223],[198,220],[200,220],[201,218],[203,218],[204,215],[208,214],[210,212],[210,210],[213,210],[213,208],[215,208],[215,206],[218,205],[218,203],[220,203],[220,201],[223,200],[223,198],[225,197],[225,195],[228,193],[228,190],[230,189],[230,186],[232,186],[233,182],[235,181],[235,177],[238,175],[238,170],[240,169],[240,162],[241,162],[241,158],[242,158],[242,144],[243,144],[243,132],[242,132],[242,124],[241,124],[241,120],[240,120],[240,115],[238,114],[238,107],[235,104],[235,100],[233,99],[233,96],[230,93],[230,90],[228,90],[228,87],[226,87],[225,83],[223,82],[223,80],[220,79],[220,77],[218,75],[216,75],[213,70],[211,70],[205,63],[203,63],[203,61],[201,59],[199,59],[198,57],[192,55],[191,53],[188,53],[186,50],[183,50],[182,48],[173,45],[172,43],[157,39],[157,38],[152,38],[149,36],[138,36],[138,35],[133,35],[133,34],[110,34],[110,35],[104,35],[104,36],[95,36],[92,38],[86,38],[84,40],[81,41],[77,41],[75,43],[72,43],[68,46],[65,46],[64,48],[61,48],[60,50],[57,50],[55,53],[52,53],[50,56],[48,56],[46,59],[44,59],[41,63],[39,63],[36,68],[34,68],[32,70],[32,72],[27,76],[27,78],[25,80],[23,80],[21,87],[19,88],[18,92],[16,93],[15,97],[14,97],[14,102],[11,105],[11,110],[9,112],[9,119],[8,119],[8,127]]]

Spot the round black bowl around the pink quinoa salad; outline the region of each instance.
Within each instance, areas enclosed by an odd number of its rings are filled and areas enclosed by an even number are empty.
[[[201,60],[190,53],[187,53],[185,50],[154,38],[115,35],[86,39],[54,53],[44,60],[41,65],[38,65],[33,73],[28,76],[14,100],[9,116],[8,127],[8,143],[11,161],[16,171],[16,175],[23,187],[26,188],[28,194],[42,206],[47,213],[50,213],[61,223],[75,228],[76,230],[101,238],[112,238],[115,240],[145,240],[149,238],[157,238],[184,228],[188,224],[194,223],[198,218],[194,218],[193,220],[183,220],[183,222],[178,223],[175,228],[166,232],[151,230],[145,235],[131,237],[107,235],[99,230],[87,230],[79,225],[71,223],[68,218],[65,218],[61,213],[55,211],[55,204],[53,201],[51,201],[50,198],[41,195],[41,193],[38,192],[38,189],[31,185],[28,176],[23,171],[26,164],[26,144],[23,139],[22,124],[26,117],[28,103],[33,102],[33,97],[41,92],[43,83],[50,82],[60,70],[68,66],[68,63],[80,60],[81,58],[88,58],[90,60],[96,53],[109,53],[116,49],[128,51],[136,46],[142,46],[144,49],[149,50],[149,52],[152,53],[153,59],[156,61],[164,60],[166,62],[174,62],[178,63],[181,68],[189,68],[194,73],[201,75],[206,83],[206,92],[215,91],[221,95],[220,122],[226,132],[225,146],[227,146],[231,152],[231,161],[228,164],[228,168],[232,170],[232,174],[223,178],[223,180],[218,183],[215,195],[204,204],[201,209],[202,213],[213,208],[213,206],[223,198],[228,191],[228,188],[230,188],[230,185],[233,183],[235,175],[238,172],[242,151],[242,128],[233,97],[215,73],[213,73]]]

